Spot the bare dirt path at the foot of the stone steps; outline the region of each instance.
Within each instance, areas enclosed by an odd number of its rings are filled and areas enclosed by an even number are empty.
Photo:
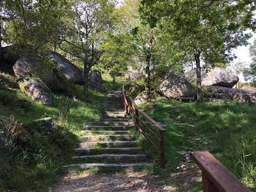
[[[185,170],[170,174],[161,179],[147,173],[90,173],[67,175],[49,189],[51,191],[191,191],[193,184],[200,177],[195,164],[189,163]]]

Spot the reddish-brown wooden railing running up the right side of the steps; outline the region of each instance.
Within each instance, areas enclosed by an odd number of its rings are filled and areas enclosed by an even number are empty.
[[[136,129],[145,136],[148,143],[154,147],[156,152],[160,155],[160,165],[162,168],[165,166],[164,155],[164,132],[165,129],[157,123],[154,119],[147,115],[142,109],[138,108],[132,97],[125,95],[124,84],[122,87],[122,93],[124,97],[124,106],[127,115],[130,115],[134,121]],[[144,119],[144,120],[142,120]],[[150,125],[153,127],[150,128]],[[158,134],[156,133],[158,132]],[[155,142],[154,142],[155,141]]]

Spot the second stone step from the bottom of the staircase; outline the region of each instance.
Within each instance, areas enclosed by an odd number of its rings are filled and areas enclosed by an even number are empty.
[[[145,154],[97,154],[92,156],[74,156],[73,163],[140,163],[148,161]]]

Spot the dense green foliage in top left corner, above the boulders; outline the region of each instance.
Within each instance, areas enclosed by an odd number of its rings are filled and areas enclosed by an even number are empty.
[[[48,54],[64,33],[67,1],[3,1],[2,40],[19,54]]]

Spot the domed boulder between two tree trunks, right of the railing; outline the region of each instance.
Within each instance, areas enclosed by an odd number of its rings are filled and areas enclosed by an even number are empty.
[[[181,75],[170,70],[159,82],[157,89],[159,95],[169,99],[179,99],[179,97],[196,97],[195,88]]]

